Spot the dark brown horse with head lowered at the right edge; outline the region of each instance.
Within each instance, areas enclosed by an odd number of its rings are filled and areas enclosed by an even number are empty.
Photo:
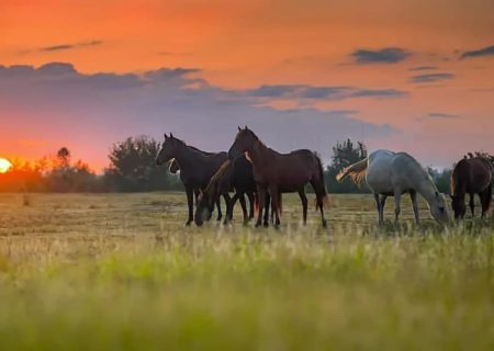
[[[470,195],[470,211],[474,215],[475,194],[482,204],[482,218],[489,212],[492,202],[492,171],[493,165],[483,157],[464,158],[460,160],[451,173],[451,207],[454,218],[463,218],[467,206],[464,197]]]

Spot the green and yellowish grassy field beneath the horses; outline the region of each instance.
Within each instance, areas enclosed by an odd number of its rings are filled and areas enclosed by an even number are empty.
[[[0,350],[494,350],[492,219],[283,204],[186,228],[183,194],[0,195]]]

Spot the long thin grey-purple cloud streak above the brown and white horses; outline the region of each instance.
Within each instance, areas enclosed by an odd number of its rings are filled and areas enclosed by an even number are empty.
[[[352,98],[403,98],[407,95],[407,92],[396,89],[362,89],[346,86],[278,84],[261,86],[249,90],[248,94],[269,99],[346,100]]]

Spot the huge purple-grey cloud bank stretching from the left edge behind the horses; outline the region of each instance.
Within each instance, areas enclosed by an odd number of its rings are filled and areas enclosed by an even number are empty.
[[[388,97],[391,91],[305,84],[226,90],[211,86],[197,68],[89,75],[63,63],[38,68],[0,66],[0,111],[3,112],[0,120],[15,116],[0,121],[0,125],[2,135],[59,140],[74,155],[98,165],[108,162],[112,143],[131,135],[147,134],[161,139],[164,132],[173,132],[204,150],[226,150],[237,125],[248,125],[277,150],[310,148],[329,159],[332,145],[347,137],[360,138],[362,129],[366,140],[400,132],[389,124],[357,120],[357,110],[324,111],[305,105],[287,111],[260,102],[291,95],[304,99]],[[15,140],[8,145],[15,145]],[[36,152],[52,152],[50,147],[40,147]]]

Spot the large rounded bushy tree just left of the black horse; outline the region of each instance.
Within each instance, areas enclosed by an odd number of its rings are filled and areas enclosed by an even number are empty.
[[[169,188],[166,167],[156,165],[159,143],[146,136],[128,137],[110,150],[105,182],[112,191],[151,191]]]

